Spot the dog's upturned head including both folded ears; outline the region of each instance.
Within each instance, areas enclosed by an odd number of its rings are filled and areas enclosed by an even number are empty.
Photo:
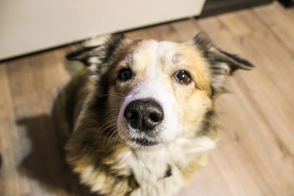
[[[184,43],[114,35],[101,46],[83,48],[67,58],[83,61],[99,76],[97,86],[103,88],[98,91],[107,97],[115,132],[132,148],[213,135],[209,118],[225,78],[239,68],[253,68],[203,34]]]

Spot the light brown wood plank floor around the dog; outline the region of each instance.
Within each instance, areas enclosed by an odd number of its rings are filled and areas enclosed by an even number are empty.
[[[199,31],[256,68],[238,71],[228,81],[232,93],[217,100],[218,147],[210,164],[178,196],[293,196],[294,9],[274,2],[125,35],[185,41]],[[85,195],[59,166],[50,118],[51,102],[69,80],[67,50],[0,62],[1,196]]]

